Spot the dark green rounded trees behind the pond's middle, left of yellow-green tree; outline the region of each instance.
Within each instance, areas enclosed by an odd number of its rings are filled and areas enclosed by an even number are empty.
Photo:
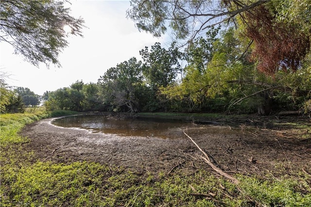
[[[155,43],[135,57],[108,69],[98,80],[100,99],[108,110],[122,112],[165,110],[167,101],[160,87],[174,82],[180,70],[181,52],[173,44],[168,50]],[[164,103],[164,104],[162,104]]]

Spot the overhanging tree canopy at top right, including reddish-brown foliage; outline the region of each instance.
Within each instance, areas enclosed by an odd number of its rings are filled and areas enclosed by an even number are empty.
[[[233,22],[252,43],[246,48],[252,49],[250,60],[259,71],[274,75],[301,68],[311,45],[310,11],[310,0],[131,0],[127,16],[139,30],[160,36],[170,27],[176,39],[188,42],[215,25]]]

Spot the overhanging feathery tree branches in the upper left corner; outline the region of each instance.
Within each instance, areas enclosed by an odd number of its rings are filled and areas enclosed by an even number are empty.
[[[16,53],[38,67],[40,62],[60,67],[59,53],[68,46],[64,26],[81,35],[82,18],[71,17],[60,0],[1,0],[0,41],[11,44]]]

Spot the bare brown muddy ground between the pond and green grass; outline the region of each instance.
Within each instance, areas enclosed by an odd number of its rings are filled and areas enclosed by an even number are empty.
[[[27,151],[35,152],[35,160],[92,161],[151,173],[171,173],[177,168],[190,172],[210,169],[198,158],[201,153],[182,129],[176,130],[177,139],[122,137],[57,127],[51,120],[27,125],[21,132],[30,139],[23,145]],[[269,121],[269,128],[265,121]],[[296,170],[311,173],[310,119],[298,120],[299,124],[309,125],[309,129],[286,127],[287,120],[282,119],[275,119],[277,125],[271,124],[271,118],[265,121],[258,122],[257,126],[240,121],[236,128],[196,125],[186,133],[226,173],[262,176],[279,176]]]

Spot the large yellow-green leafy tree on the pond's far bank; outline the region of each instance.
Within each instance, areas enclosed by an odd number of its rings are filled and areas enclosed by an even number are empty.
[[[221,31],[218,38],[209,36],[197,43],[199,47],[193,45],[195,50],[186,50],[186,56],[196,61],[185,68],[182,82],[163,88],[162,93],[169,99],[187,103],[190,111],[224,111],[231,101],[270,87],[264,84],[267,79],[255,70],[254,64],[247,61],[248,45],[241,45],[233,27]],[[203,56],[207,48],[208,55]],[[244,112],[257,109],[264,101],[260,95],[253,103],[251,97],[255,95],[250,96],[248,104],[243,104]],[[239,108],[235,105],[236,111]]]

